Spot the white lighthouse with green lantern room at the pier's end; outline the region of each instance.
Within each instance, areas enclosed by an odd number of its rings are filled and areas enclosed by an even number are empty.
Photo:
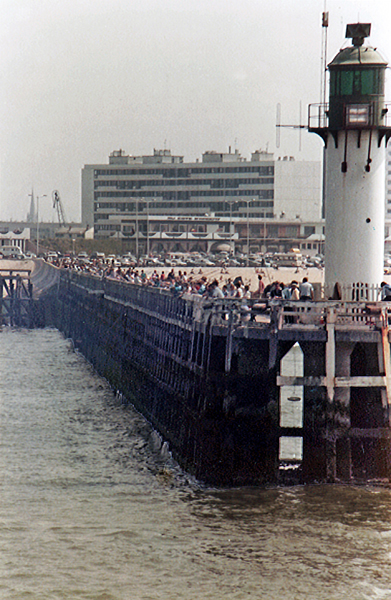
[[[347,25],[352,45],[328,65],[328,105],[310,105],[309,131],[325,143],[325,288],[376,300],[383,279],[387,62],[364,45],[369,23]]]

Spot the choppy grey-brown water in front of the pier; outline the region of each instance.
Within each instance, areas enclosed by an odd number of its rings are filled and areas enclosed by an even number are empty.
[[[391,599],[391,490],[213,490],[54,330],[0,332],[0,598]]]

